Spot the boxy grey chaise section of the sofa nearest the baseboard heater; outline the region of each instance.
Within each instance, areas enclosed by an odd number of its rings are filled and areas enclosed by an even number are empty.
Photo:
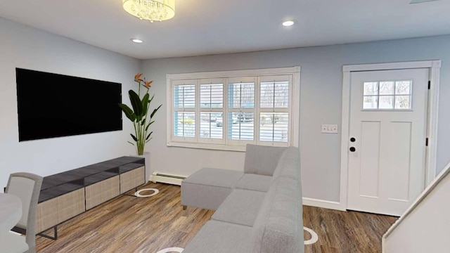
[[[181,205],[217,209],[231,193],[242,171],[203,168],[181,181]]]

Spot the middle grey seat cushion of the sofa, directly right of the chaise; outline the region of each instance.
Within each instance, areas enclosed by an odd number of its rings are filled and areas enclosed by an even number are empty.
[[[266,193],[234,189],[212,215],[213,220],[253,226]]]

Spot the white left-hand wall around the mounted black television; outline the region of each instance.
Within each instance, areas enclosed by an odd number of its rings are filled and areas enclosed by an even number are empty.
[[[126,117],[123,131],[19,143],[15,67],[119,82],[127,94],[139,66],[139,60],[0,18],[0,186],[13,172],[47,176],[134,152]],[[71,87],[60,89],[63,96]]]

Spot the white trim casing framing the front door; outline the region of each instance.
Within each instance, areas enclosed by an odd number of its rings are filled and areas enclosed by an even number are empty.
[[[437,112],[439,101],[439,72],[441,60],[423,60],[401,63],[375,63],[342,66],[342,134],[340,155],[340,210],[347,209],[348,195],[348,150],[349,150],[349,121],[350,121],[350,88],[351,72],[375,70],[404,70],[428,68],[430,70],[430,91],[428,92],[427,137],[428,150],[425,155],[425,188],[436,176],[437,155]],[[423,140],[425,143],[425,140]],[[425,144],[424,144],[425,145]]]

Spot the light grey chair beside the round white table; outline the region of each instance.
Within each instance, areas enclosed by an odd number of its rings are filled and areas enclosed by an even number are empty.
[[[42,177],[31,173],[14,173],[9,176],[6,193],[15,195],[22,200],[22,218],[13,230],[25,233],[25,237],[7,233],[7,238],[1,238],[0,252],[36,252],[36,210]]]

